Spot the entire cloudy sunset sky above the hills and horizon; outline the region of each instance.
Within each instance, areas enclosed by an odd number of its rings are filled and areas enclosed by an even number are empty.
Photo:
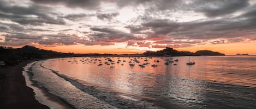
[[[254,0],[0,0],[0,46],[256,54]]]

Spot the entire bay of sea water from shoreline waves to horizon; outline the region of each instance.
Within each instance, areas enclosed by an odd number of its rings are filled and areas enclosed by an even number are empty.
[[[109,58],[115,64],[105,57],[37,61],[32,78],[75,108],[256,108],[256,56],[195,56],[195,65],[186,65],[188,56],[172,57],[177,65],[141,57],[134,67],[134,57]]]

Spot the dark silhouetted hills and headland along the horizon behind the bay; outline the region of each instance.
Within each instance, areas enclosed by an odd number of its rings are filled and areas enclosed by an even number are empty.
[[[82,57],[82,56],[200,56],[200,55],[225,55],[210,50],[199,50],[195,53],[187,51],[178,51],[169,47],[157,52],[147,51],[142,54],[75,54],[61,53],[52,50],[39,49],[33,46],[24,46],[22,48],[0,47],[0,61],[4,61],[6,65],[17,65],[20,61],[33,59],[47,59],[56,57]]]

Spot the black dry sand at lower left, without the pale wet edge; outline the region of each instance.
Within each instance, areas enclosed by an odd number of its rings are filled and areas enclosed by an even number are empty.
[[[32,88],[26,86],[22,75],[27,62],[20,62],[16,66],[0,67],[0,108],[49,108],[35,100]]]

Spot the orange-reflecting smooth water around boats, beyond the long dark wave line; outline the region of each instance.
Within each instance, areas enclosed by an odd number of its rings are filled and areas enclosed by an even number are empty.
[[[134,57],[109,58],[114,62],[104,57],[74,57],[47,60],[43,66],[82,84],[118,92],[118,97],[164,108],[256,107],[256,56],[196,56],[195,65],[186,65],[187,56],[172,57],[179,60],[176,66],[164,64],[170,57],[148,61],[141,57],[136,59],[139,63]],[[115,64],[106,65],[107,61]],[[129,61],[135,66],[130,67]],[[146,62],[150,64],[139,66]]]

